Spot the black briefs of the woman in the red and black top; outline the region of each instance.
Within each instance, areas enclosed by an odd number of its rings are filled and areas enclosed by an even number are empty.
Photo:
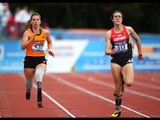
[[[130,58],[130,59],[119,59],[119,60],[111,59],[111,63],[116,63],[116,64],[120,65],[121,67],[123,67],[128,63],[133,63],[133,58]]]

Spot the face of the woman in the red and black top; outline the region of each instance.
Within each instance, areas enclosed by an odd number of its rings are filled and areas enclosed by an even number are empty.
[[[119,12],[114,13],[112,21],[115,25],[122,24],[122,14]]]

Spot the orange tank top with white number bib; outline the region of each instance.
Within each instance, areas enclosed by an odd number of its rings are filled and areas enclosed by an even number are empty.
[[[26,48],[26,56],[45,56],[44,52],[44,43],[46,40],[46,36],[44,34],[44,29],[40,29],[40,34],[36,35],[34,42],[32,42],[27,48]],[[28,32],[30,33],[29,39],[34,35],[33,31],[31,29],[28,29]]]

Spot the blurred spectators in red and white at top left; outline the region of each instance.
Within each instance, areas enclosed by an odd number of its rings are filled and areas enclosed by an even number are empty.
[[[19,6],[11,12],[9,3],[0,3],[0,40],[22,38],[32,12],[28,6]]]

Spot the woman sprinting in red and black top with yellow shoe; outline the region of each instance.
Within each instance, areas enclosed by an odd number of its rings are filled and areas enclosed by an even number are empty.
[[[115,112],[112,117],[121,115],[121,102],[123,84],[130,87],[134,81],[133,55],[134,44],[131,37],[136,41],[138,59],[143,59],[140,38],[131,26],[122,24],[123,15],[116,10],[111,16],[114,27],[106,32],[105,55],[111,56],[111,70],[115,89]]]

